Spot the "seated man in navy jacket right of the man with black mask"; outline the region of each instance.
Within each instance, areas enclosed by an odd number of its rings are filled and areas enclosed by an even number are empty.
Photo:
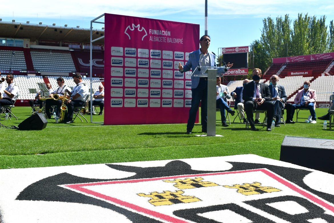
[[[274,117],[275,127],[281,127],[282,109],[284,109],[284,103],[287,101],[285,89],[282,85],[278,85],[279,78],[277,75],[273,75],[270,78],[269,90],[272,95],[272,101],[274,103]]]

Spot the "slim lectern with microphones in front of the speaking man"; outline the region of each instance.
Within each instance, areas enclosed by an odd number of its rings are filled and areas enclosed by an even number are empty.
[[[226,67],[204,67],[197,66],[192,72],[194,77],[207,77],[208,92],[207,92],[207,133],[206,136],[222,136],[216,135],[216,83],[217,77],[222,77]],[[201,135],[205,136],[205,135]]]

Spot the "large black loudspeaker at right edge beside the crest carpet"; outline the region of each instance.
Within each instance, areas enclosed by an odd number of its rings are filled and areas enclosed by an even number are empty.
[[[334,140],[285,136],[280,160],[334,174]]]

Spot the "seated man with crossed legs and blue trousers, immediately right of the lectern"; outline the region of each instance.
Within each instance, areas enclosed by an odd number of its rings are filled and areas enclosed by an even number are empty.
[[[232,116],[235,111],[230,109],[227,105],[227,99],[231,98],[230,93],[228,92],[228,88],[226,85],[220,84],[220,77],[217,77],[217,98],[216,98],[216,107],[220,109],[221,123],[224,127],[227,127],[226,117],[225,117],[225,109]]]

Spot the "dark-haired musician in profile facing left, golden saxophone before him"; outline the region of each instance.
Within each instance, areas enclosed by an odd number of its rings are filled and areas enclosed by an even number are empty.
[[[65,122],[67,124],[73,123],[73,112],[75,107],[82,107],[87,100],[88,96],[88,87],[85,83],[82,82],[82,77],[80,74],[73,75],[73,81],[76,84],[76,86],[73,88],[71,92],[66,90],[66,92],[69,94],[70,98],[66,102],[67,106],[67,118]]]

